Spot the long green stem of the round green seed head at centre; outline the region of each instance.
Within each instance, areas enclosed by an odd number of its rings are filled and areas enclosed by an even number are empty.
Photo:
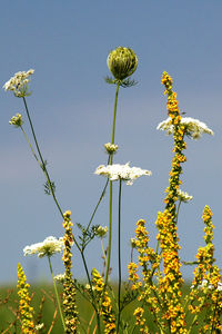
[[[112,122],[112,143],[114,144],[114,132],[115,132],[115,119],[117,119],[117,107],[118,107],[118,95],[119,95],[120,82],[117,84],[115,99],[114,99],[114,111],[113,111],[113,122]],[[113,155],[110,156],[110,165],[112,165]],[[108,245],[108,262],[104,278],[104,288],[108,284],[108,276],[110,272],[110,259],[111,259],[111,243],[112,243],[112,181],[110,180],[110,206],[109,206],[109,245]]]

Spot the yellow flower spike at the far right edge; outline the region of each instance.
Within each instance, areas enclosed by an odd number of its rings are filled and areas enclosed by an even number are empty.
[[[194,269],[194,279],[192,282],[192,289],[190,293],[190,305],[189,310],[192,314],[195,314],[193,325],[198,314],[208,310],[204,318],[204,330],[222,331],[222,283],[219,267],[214,264],[213,257],[213,224],[212,224],[212,212],[209,206],[204,207],[203,210],[204,228],[204,240],[205,247],[200,247],[196,254],[198,266]],[[211,311],[211,312],[210,312]]]

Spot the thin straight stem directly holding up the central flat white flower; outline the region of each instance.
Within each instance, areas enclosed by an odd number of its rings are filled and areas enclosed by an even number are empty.
[[[120,179],[119,186],[119,213],[118,213],[118,255],[119,255],[119,283],[118,283],[118,325],[117,325],[117,333],[119,333],[120,326],[120,297],[121,297],[121,193],[122,193],[122,180]]]

